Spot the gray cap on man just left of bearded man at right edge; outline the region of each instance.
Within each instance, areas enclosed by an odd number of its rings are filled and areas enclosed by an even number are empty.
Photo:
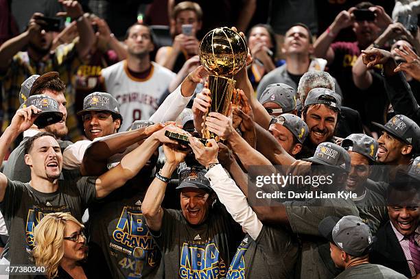
[[[377,141],[375,141],[375,138],[366,136],[366,134],[351,134],[347,136],[347,138],[342,140],[341,147],[361,154],[373,162],[376,160]]]

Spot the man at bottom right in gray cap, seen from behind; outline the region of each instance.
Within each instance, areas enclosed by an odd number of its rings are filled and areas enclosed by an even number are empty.
[[[319,232],[329,241],[331,259],[336,267],[345,269],[336,279],[402,279],[406,276],[383,265],[369,263],[369,249],[373,236],[360,217],[326,217],[319,224]]]

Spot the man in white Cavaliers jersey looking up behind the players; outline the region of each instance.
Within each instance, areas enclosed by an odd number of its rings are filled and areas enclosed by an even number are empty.
[[[121,106],[126,130],[135,120],[149,119],[158,109],[158,101],[167,90],[175,73],[150,61],[154,50],[150,28],[136,23],[127,30],[127,59],[102,70],[106,92]]]

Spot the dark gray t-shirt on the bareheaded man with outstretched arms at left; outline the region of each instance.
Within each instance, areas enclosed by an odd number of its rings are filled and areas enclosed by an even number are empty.
[[[88,204],[96,197],[95,177],[59,180],[54,193],[41,193],[29,183],[8,180],[0,210],[9,231],[3,256],[11,265],[34,265],[34,228],[47,213],[68,212],[82,221]]]

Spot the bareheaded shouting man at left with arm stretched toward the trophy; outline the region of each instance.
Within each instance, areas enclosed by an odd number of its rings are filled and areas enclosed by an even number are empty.
[[[40,110],[34,106],[20,109],[11,125],[0,137],[0,159],[16,136],[30,128]],[[174,126],[172,126],[174,127]],[[53,134],[32,136],[25,143],[25,163],[31,168],[31,181],[8,180],[0,173],[1,212],[10,231],[3,255],[11,265],[30,265],[33,232],[38,221],[47,213],[70,212],[79,221],[82,213],[95,199],[106,197],[133,178],[148,161],[147,151],[161,142],[174,143],[165,136],[170,127],[156,127],[159,132],[124,156],[117,167],[99,177],[78,180],[58,180],[62,170],[62,154]],[[162,129],[163,128],[163,129]]]

